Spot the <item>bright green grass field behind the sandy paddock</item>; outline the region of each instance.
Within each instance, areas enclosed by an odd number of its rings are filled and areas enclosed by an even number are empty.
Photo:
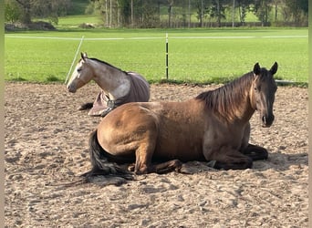
[[[223,82],[279,64],[277,78],[307,83],[307,28],[301,29],[78,29],[5,34],[5,80],[64,81],[78,48],[150,82],[165,79],[165,34],[169,79]],[[78,60],[78,59],[77,59]]]

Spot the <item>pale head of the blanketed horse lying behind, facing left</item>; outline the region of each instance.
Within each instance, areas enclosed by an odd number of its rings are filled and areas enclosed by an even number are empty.
[[[86,85],[92,78],[93,72],[88,66],[88,55],[81,53],[81,58],[68,81],[68,91],[75,93],[78,88]]]

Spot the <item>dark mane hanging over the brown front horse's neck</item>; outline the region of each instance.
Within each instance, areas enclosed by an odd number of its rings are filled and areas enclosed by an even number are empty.
[[[244,98],[249,94],[254,80],[254,73],[249,72],[241,78],[225,84],[223,87],[199,94],[196,99],[203,100],[208,109],[227,121],[236,118]]]

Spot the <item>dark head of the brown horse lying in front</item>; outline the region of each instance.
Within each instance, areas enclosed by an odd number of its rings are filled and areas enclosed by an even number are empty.
[[[273,76],[277,71],[277,63],[270,70],[260,67],[258,63],[254,67],[254,76],[251,87],[251,102],[254,109],[260,112],[263,127],[270,127],[275,119],[273,104],[276,95],[276,81]]]

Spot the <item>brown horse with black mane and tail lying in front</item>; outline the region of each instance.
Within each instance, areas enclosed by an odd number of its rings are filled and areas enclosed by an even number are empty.
[[[129,103],[112,110],[89,139],[92,170],[84,176],[122,176],[120,163],[136,174],[179,171],[181,161],[213,161],[216,169],[247,169],[267,159],[249,143],[249,119],[257,110],[263,127],[275,119],[274,74],[254,70],[221,88],[182,102]]]

